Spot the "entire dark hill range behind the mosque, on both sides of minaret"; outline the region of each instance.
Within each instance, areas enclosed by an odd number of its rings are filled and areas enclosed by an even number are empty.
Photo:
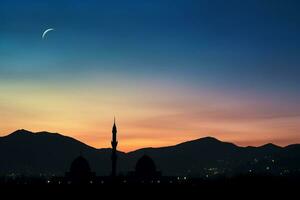
[[[0,137],[0,174],[63,175],[82,154],[98,175],[109,175],[111,149],[96,149],[57,133],[18,130]],[[300,172],[300,145],[239,147],[212,137],[175,146],[118,153],[118,172],[134,170],[147,154],[163,175],[217,177],[245,173],[289,175]]]

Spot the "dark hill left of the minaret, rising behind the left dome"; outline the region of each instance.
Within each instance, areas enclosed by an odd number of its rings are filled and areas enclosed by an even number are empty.
[[[110,152],[111,149],[95,149],[57,133],[18,130],[0,138],[0,174],[62,175],[80,154],[89,160],[97,173],[109,174]],[[119,152],[119,156],[122,155]]]

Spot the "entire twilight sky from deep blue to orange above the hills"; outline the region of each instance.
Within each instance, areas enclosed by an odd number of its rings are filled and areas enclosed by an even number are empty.
[[[1,0],[0,136],[300,143],[297,0]],[[54,28],[43,39],[48,28]]]

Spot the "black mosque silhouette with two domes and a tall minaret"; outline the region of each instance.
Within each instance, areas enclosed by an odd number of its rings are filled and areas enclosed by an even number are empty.
[[[90,164],[84,156],[80,155],[73,160],[69,172],[65,177],[56,177],[52,183],[58,184],[93,184],[93,183],[160,183],[162,174],[157,171],[156,165],[151,157],[143,155],[136,163],[135,170],[127,176],[117,176],[117,126],[114,120],[112,128],[112,153],[111,153],[111,174],[106,177],[96,176],[92,172]]]

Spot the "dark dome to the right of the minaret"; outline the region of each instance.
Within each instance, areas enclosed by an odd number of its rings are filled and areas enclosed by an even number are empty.
[[[137,161],[135,171],[139,176],[152,176],[156,174],[156,166],[149,156],[144,155]]]

